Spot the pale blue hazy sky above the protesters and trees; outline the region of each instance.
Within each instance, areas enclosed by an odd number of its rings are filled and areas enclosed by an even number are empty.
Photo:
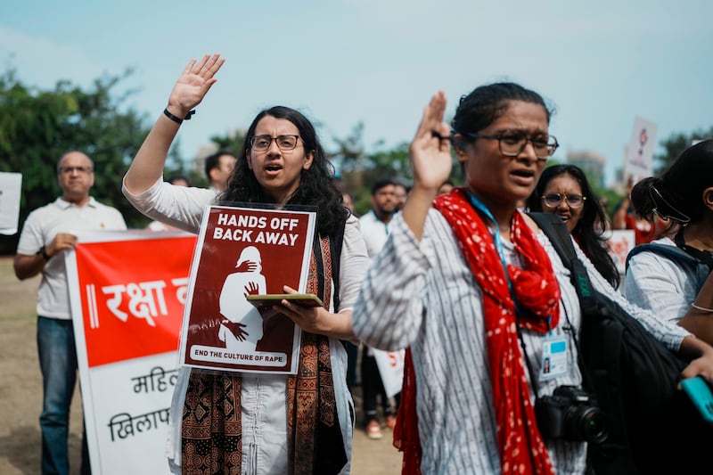
[[[23,0],[0,13],[0,68],[45,90],[130,68],[128,105],[151,125],[188,61],[220,53],[178,135],[188,159],[276,104],[318,123],[328,150],[359,122],[367,152],[388,149],[438,90],[449,119],[476,86],[514,81],[554,108],[555,158],[599,153],[612,184],[636,117],[657,142],[713,127],[711,18],[709,0]]]

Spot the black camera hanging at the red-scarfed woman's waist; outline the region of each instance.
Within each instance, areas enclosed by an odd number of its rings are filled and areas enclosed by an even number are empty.
[[[606,415],[593,398],[577,386],[559,386],[552,396],[537,399],[535,416],[543,438],[601,444],[609,435]]]

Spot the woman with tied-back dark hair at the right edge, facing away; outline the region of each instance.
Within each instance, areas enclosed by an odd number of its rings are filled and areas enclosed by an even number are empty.
[[[686,149],[660,178],[635,184],[631,201],[649,221],[668,220],[673,239],[654,244],[678,247],[705,266],[644,246],[628,262],[627,298],[713,343],[713,140]]]

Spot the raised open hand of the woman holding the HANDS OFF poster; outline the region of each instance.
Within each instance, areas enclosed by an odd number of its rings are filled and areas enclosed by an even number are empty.
[[[217,81],[217,70],[225,59],[220,54],[206,54],[201,61],[191,60],[173,86],[168,96],[168,110],[178,117],[184,117],[188,111],[201,103],[210,86]]]

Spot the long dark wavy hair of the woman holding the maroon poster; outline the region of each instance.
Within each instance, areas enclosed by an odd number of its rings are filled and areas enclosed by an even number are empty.
[[[252,170],[248,167],[247,155],[250,152],[250,137],[255,135],[260,119],[265,117],[289,120],[299,130],[299,137],[305,145],[306,152],[314,152],[312,166],[301,171],[299,188],[286,204],[316,206],[317,231],[322,235],[337,233],[339,226],[348,217],[348,209],[342,206],[341,192],[334,184],[334,167],[324,153],[316,135],[315,127],[301,112],[289,107],[275,106],[260,111],[253,119],[245,135],[245,146],[238,157],[233,174],[228,180],[228,187],[218,199],[221,201],[242,201],[246,203],[275,203],[258,183]]]

